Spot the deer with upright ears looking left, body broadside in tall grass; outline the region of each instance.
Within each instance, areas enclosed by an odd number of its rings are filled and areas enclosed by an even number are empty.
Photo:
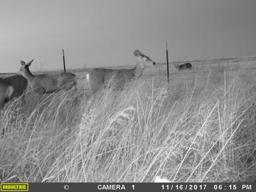
[[[20,61],[21,67],[18,73],[28,80],[29,86],[40,94],[41,97],[45,93],[70,90],[70,88],[76,85],[76,75],[68,72],[34,76],[29,70],[32,61],[29,61],[27,64],[24,61]]]

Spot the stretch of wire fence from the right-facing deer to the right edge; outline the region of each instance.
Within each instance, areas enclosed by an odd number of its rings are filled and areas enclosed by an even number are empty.
[[[173,84],[182,83],[186,86],[195,86],[198,79],[200,82],[205,80],[218,81],[224,83],[224,80],[233,77],[255,77],[256,76],[256,57],[230,58],[220,60],[202,60],[202,61],[186,61],[192,64],[191,69],[178,70],[174,67],[174,62],[169,63],[170,83],[166,81],[166,64],[159,64],[154,68],[148,68],[143,76],[154,77],[155,79],[163,79],[160,86],[173,86]],[[179,62],[179,63],[186,63]]]

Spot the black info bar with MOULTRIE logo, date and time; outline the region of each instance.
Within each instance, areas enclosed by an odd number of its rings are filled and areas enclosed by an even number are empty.
[[[0,191],[255,191],[256,183],[243,182],[92,182],[1,183]]]

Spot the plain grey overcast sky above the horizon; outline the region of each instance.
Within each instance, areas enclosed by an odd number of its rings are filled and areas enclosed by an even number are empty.
[[[0,73],[256,55],[255,0],[0,2]]]

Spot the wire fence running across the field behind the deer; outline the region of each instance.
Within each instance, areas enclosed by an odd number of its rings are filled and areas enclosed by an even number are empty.
[[[214,60],[195,60],[183,61],[179,63],[191,63],[191,70],[178,70],[174,67],[174,62],[169,62],[170,84],[186,83],[187,86],[194,86],[196,79],[214,79],[216,81],[223,81],[224,77],[237,76],[256,76],[256,56],[247,56],[242,58],[226,58]],[[134,66],[120,66],[108,68],[132,68]],[[49,72],[34,72],[33,74],[54,74],[60,71]],[[88,83],[86,81],[86,74],[90,72],[90,68],[67,70],[76,74],[79,80],[79,87],[86,92],[88,90]],[[0,77],[11,76],[13,74],[0,74]],[[167,83],[167,68],[166,63],[157,63],[154,67],[145,68],[143,72],[143,79],[154,77],[157,81],[157,86],[168,86]],[[159,83],[159,79],[161,82]],[[170,85],[169,84],[169,85]]]

